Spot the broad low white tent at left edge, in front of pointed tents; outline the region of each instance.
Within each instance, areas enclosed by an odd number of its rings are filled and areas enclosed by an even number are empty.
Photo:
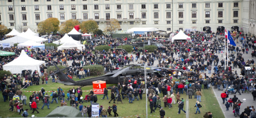
[[[10,43],[10,45],[13,45],[14,43],[24,43],[28,40],[35,41],[37,43],[41,43],[43,41],[47,41],[45,38],[40,38],[38,36],[29,35],[26,33],[20,33],[17,36],[14,36],[12,38],[8,38],[6,40],[0,41],[0,43]]]

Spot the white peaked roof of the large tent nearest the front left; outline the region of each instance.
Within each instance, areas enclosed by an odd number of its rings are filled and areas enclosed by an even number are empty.
[[[21,51],[19,57],[17,59],[14,59],[8,64],[5,64],[3,67],[7,66],[34,66],[34,65],[40,65],[44,64],[44,61],[39,61],[36,59],[33,59],[29,57],[24,50]]]

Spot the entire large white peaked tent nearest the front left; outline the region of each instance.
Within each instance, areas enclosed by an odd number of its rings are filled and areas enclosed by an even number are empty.
[[[11,71],[11,73],[21,73],[22,70],[40,71],[39,66],[44,63],[44,61],[39,61],[29,57],[26,52],[22,50],[17,59],[3,65],[3,68],[4,70]]]

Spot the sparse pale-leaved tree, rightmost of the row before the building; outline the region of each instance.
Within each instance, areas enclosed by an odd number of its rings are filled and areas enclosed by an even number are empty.
[[[118,22],[118,20],[116,19],[111,19],[109,24],[106,26],[105,32],[112,34],[115,33],[116,29],[120,28],[120,24]]]

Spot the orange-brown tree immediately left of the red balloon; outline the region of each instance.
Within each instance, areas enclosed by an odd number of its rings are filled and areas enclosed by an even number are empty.
[[[60,33],[61,34],[69,33],[74,28],[74,26],[77,26],[79,24],[80,23],[78,20],[74,20],[74,19],[66,20],[66,22],[64,22],[60,26]]]

